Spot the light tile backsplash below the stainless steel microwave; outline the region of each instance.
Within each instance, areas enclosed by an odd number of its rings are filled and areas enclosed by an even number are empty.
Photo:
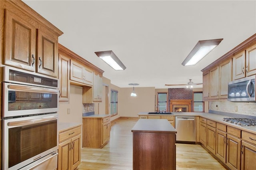
[[[209,110],[256,116],[256,103],[211,101],[209,102]]]

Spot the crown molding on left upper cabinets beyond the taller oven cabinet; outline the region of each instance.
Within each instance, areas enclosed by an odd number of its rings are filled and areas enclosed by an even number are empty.
[[[59,50],[59,52],[62,51],[64,53],[70,55],[70,57],[72,57],[73,59],[76,59],[77,61],[82,62],[83,64],[85,64],[86,66],[90,67],[91,69],[93,69],[97,73],[100,73],[101,75],[102,75],[102,73],[104,73],[104,71],[102,69],[96,67],[95,65],[93,65],[92,63],[90,63],[89,61],[84,59],[83,57],[80,57],[79,55],[77,55],[73,51],[70,51],[70,49],[64,47],[60,43],[58,43],[58,50]]]

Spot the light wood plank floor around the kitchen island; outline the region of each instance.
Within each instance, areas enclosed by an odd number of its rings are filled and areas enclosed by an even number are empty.
[[[112,123],[110,142],[102,149],[82,148],[78,170],[132,170],[132,132],[138,119]],[[176,144],[176,170],[225,170],[202,146]]]

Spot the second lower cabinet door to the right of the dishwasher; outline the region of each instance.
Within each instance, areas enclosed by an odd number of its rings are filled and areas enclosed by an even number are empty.
[[[216,154],[216,128],[207,126],[206,131],[206,148],[213,154]]]

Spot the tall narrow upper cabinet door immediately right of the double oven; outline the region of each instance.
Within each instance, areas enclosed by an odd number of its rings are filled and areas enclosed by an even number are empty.
[[[70,95],[70,59],[59,54],[60,101],[69,101]]]

